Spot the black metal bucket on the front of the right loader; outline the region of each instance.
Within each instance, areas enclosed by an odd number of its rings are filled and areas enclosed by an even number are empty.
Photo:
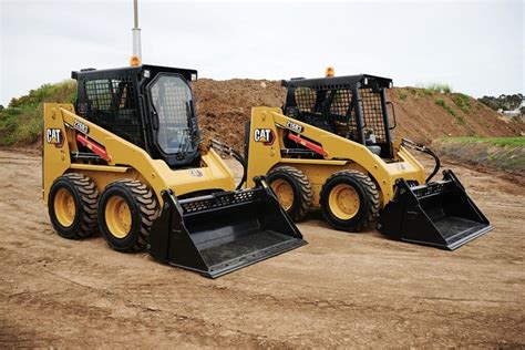
[[[400,179],[378,229],[403,241],[454,250],[493,227],[452,171],[443,179],[413,186]]]

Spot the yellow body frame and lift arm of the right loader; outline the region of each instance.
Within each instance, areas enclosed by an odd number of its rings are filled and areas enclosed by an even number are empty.
[[[299,125],[300,135],[315,140],[326,152],[323,159],[291,158],[281,155],[285,148],[285,131],[288,125]],[[291,130],[297,132],[297,127]],[[274,140],[265,137],[255,138],[256,131],[270,131]],[[395,162],[387,163],[373,154],[366,146],[338,136],[333,133],[302,123],[282,114],[277,107],[251,109],[251,123],[249,131],[248,173],[247,186],[254,185],[256,175],[268,174],[271,169],[289,165],[302,171],[312,185],[313,206],[319,206],[321,187],[331,174],[343,169],[360,171],[369,174],[378,185],[381,207],[392,200],[394,185],[398,178],[415,181],[422,185],[425,182],[423,166],[401,145],[394,143]],[[256,159],[256,161],[254,161]],[[322,165],[322,166],[320,166]]]

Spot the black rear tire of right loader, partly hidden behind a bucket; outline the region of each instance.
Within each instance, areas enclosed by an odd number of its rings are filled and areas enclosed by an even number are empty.
[[[294,222],[302,219],[310,209],[312,202],[311,183],[300,169],[292,166],[279,166],[270,171],[266,176],[268,183],[282,179],[290,184],[294,191],[294,203],[286,213]]]

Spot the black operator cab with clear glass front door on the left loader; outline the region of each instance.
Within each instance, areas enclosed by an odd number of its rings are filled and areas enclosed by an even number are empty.
[[[191,82],[197,71],[158,65],[72,72],[75,111],[169,167],[198,165],[199,131]]]

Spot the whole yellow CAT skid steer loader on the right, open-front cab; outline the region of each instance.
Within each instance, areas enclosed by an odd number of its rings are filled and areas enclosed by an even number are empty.
[[[291,218],[320,208],[334,228],[359,231],[379,217],[384,235],[444,249],[492,229],[452,171],[431,182],[440,168],[432,151],[392,140],[390,79],[327,76],[282,84],[284,111],[251,110],[245,157],[248,186],[254,176],[266,175]],[[434,157],[429,177],[408,148]]]

